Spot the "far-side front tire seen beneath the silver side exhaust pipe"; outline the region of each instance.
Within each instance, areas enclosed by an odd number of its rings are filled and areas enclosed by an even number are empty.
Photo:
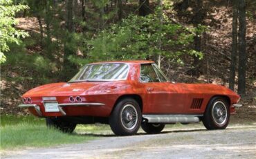
[[[152,124],[152,123],[147,123],[143,122],[141,123],[141,128],[146,132],[146,133],[161,133],[161,131],[165,128],[165,124]]]

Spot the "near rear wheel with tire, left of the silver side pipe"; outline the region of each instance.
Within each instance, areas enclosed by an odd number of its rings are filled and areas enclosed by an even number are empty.
[[[138,102],[132,98],[124,98],[116,104],[109,125],[116,135],[134,135],[140,128],[141,110]]]

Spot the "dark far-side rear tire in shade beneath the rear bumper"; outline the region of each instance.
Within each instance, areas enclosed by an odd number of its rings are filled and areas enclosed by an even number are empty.
[[[64,133],[72,133],[75,130],[76,124],[58,118],[46,118],[46,126],[58,129]]]

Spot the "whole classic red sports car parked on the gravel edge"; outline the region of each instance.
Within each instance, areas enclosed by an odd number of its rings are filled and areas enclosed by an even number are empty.
[[[109,124],[116,135],[133,135],[140,125],[160,133],[165,124],[203,121],[225,129],[239,95],[215,84],[169,82],[152,61],[98,62],[84,66],[69,82],[46,84],[22,95],[33,115],[72,132],[76,124]]]

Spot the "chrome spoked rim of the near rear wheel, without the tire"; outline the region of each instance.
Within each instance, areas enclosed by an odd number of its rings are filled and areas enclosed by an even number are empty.
[[[138,122],[138,112],[132,104],[127,104],[121,111],[122,126],[127,130],[134,129]]]

